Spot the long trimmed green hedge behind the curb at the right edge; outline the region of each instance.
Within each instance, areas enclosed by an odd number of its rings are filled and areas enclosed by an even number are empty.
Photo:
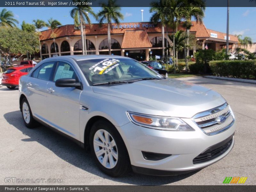
[[[210,61],[209,65],[215,76],[256,78],[256,60]]]

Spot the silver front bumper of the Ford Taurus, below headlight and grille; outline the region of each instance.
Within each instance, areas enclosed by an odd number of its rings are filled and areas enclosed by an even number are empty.
[[[195,131],[160,131],[144,128],[132,122],[117,127],[127,147],[134,172],[153,175],[177,175],[202,169],[226,156],[234,146],[234,138],[228,149],[216,158],[204,163],[193,163],[193,159],[227,138],[232,138],[236,124],[216,135],[206,135],[189,119],[182,119]],[[144,159],[142,151],[170,154],[162,160]]]

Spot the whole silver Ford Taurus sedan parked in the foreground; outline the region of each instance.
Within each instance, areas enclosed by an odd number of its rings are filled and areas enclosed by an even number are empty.
[[[210,89],[162,77],[122,56],[60,56],[41,61],[19,83],[20,110],[90,149],[117,177],[177,175],[202,169],[234,145],[235,117]]]

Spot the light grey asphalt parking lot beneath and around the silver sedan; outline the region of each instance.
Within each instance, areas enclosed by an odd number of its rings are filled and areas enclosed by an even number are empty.
[[[180,79],[219,92],[235,113],[235,146],[217,163],[178,176],[129,173],[122,178],[111,178],[94,165],[89,153],[72,141],[44,126],[26,128],[19,110],[18,88],[9,90],[0,85],[0,185],[13,185],[5,182],[6,177],[62,179],[62,183],[34,183],[40,185],[222,185],[225,177],[242,176],[248,177],[245,185],[255,185],[256,85],[204,77]]]

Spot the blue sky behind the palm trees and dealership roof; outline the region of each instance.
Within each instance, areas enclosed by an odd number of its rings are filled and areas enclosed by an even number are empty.
[[[49,18],[57,19],[62,25],[73,24],[70,16],[72,7],[7,7],[11,10],[15,19],[19,20],[19,26],[23,20],[32,23],[34,19],[47,21]],[[149,21],[151,13],[149,7],[122,7],[124,20],[121,22],[142,21],[141,9],[143,9],[143,21]],[[100,7],[93,7],[94,12],[99,12]],[[229,33],[233,35],[250,36],[256,42],[256,7],[230,7],[229,8]],[[97,21],[91,16],[92,23]],[[204,17],[206,28],[226,32],[227,7],[207,7]],[[46,29],[46,28],[44,28]]]

